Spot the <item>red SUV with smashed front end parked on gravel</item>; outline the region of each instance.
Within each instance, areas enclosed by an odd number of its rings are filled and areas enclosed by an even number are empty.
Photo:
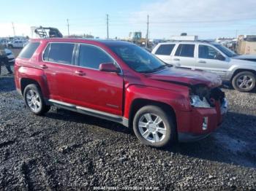
[[[216,74],[166,65],[129,42],[33,39],[15,84],[34,114],[57,106],[119,122],[153,147],[202,139],[227,111]]]

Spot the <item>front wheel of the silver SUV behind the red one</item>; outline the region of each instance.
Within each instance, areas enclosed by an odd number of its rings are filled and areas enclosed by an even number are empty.
[[[233,87],[240,92],[249,92],[255,88],[255,74],[250,71],[242,71],[232,79]]]

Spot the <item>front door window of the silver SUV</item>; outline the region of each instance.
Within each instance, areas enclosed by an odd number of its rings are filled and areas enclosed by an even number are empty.
[[[220,53],[213,47],[207,45],[199,45],[198,47],[198,58],[218,60],[218,55],[220,55]]]

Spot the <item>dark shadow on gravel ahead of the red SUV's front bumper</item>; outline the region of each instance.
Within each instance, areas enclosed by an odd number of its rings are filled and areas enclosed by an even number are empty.
[[[188,157],[256,168],[256,116],[228,112],[225,121],[206,139],[166,148]]]

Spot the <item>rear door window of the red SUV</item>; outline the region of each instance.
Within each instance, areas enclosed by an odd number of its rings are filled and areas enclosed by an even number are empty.
[[[75,44],[51,43],[48,61],[64,64],[72,64],[72,55]]]

